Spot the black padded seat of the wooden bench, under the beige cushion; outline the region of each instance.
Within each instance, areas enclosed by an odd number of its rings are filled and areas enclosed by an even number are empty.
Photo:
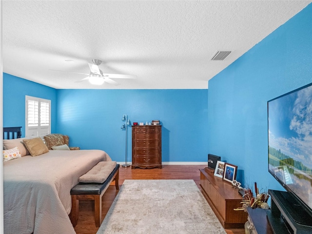
[[[116,165],[115,169],[112,173],[107,177],[107,179],[99,184],[99,183],[78,183],[75,185],[71,191],[71,195],[84,195],[84,194],[97,194],[100,195],[103,189],[106,187],[108,183],[110,183],[111,179],[114,177],[116,172],[119,170],[119,164]]]

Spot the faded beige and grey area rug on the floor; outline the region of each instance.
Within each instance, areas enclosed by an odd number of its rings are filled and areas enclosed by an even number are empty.
[[[189,179],[125,180],[97,234],[226,234]]]

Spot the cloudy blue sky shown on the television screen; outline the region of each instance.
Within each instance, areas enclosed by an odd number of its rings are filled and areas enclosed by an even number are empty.
[[[312,168],[312,86],[270,103],[269,146]]]

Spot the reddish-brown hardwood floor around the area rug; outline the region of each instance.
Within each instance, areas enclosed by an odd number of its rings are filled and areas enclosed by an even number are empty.
[[[125,179],[194,179],[200,189],[199,169],[203,165],[163,165],[162,169],[135,169],[131,167],[119,169],[119,188]],[[118,191],[115,188],[115,182],[109,186],[102,197],[102,219],[107,214]],[[247,221],[247,220],[246,220]],[[207,227],[209,229],[209,227]],[[77,234],[96,234],[98,228],[94,220],[94,201],[80,201],[78,224],[75,227]],[[245,234],[244,229],[227,229],[227,234]]]

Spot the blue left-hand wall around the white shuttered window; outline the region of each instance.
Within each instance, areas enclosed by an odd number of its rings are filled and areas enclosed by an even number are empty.
[[[51,100],[51,132],[55,132],[57,90],[6,73],[3,73],[3,127],[21,126],[25,137],[25,95]]]

